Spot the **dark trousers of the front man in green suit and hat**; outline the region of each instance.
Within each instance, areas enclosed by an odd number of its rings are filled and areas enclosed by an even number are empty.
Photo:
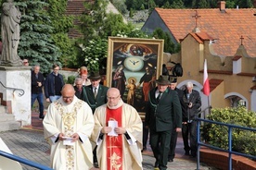
[[[149,143],[154,153],[156,161],[159,162],[160,170],[167,169],[168,153],[170,150],[170,140],[172,130],[156,132],[150,130]]]

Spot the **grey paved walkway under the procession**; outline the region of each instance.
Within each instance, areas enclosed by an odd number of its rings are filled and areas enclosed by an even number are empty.
[[[0,132],[0,138],[6,142],[13,154],[19,157],[31,160],[33,162],[49,165],[49,145],[44,140],[43,124],[38,119],[38,115],[32,114],[32,127],[22,128],[14,131]],[[143,169],[154,169],[153,164],[155,159],[152,156],[150,146],[147,146],[147,151],[143,152]],[[24,170],[32,170],[27,165],[23,165]],[[176,147],[176,157],[173,163],[168,163],[168,169],[176,170],[195,170],[197,169],[196,158],[191,158],[184,155],[183,142],[179,137]],[[205,164],[200,165],[201,170],[214,169]]]

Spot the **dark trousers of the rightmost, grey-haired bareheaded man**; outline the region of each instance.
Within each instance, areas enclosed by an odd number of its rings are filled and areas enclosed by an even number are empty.
[[[189,135],[189,136],[188,136]],[[188,137],[190,146],[188,145]],[[191,150],[192,155],[197,154],[197,121],[182,125],[182,138],[184,143],[184,150],[189,152]]]

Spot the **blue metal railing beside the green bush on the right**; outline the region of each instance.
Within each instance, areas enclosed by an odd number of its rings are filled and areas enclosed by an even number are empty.
[[[250,154],[245,154],[245,153],[242,153],[242,152],[233,152],[232,151],[232,128],[240,128],[240,129],[250,130],[250,131],[256,131],[256,128],[241,127],[241,126],[237,126],[237,125],[225,124],[225,123],[222,123],[222,122],[216,122],[216,121],[206,120],[206,119],[202,119],[202,118],[197,118],[197,121],[198,121],[198,127],[197,127],[197,138],[198,138],[197,170],[199,169],[199,164],[200,164],[200,160],[199,160],[200,159],[200,155],[199,155],[200,146],[209,147],[211,149],[221,151],[221,152],[228,152],[228,169],[229,170],[232,170],[232,154],[237,154],[237,155],[248,157],[248,158],[251,158],[251,159],[256,159],[256,156],[253,156],[253,155],[250,155]],[[224,126],[224,127],[228,128],[228,150],[224,150],[222,148],[215,147],[215,146],[200,142],[200,122],[201,121],[208,122],[208,123],[211,123],[211,124],[221,125],[221,126]]]

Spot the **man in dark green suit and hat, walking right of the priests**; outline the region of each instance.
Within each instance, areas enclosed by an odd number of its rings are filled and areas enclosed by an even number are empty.
[[[145,123],[150,129],[149,143],[156,158],[155,168],[165,170],[173,124],[177,126],[176,131],[181,131],[182,110],[177,92],[168,88],[168,76],[160,76],[156,82],[158,87],[149,91]]]

